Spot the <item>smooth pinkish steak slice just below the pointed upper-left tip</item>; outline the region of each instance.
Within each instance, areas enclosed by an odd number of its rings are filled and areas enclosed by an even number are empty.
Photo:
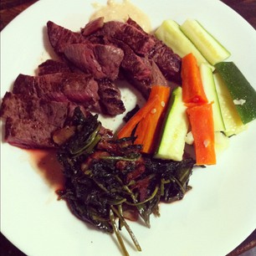
[[[64,48],[64,55],[95,79],[111,80],[117,78],[120,62],[124,57],[122,49],[103,44],[69,44]]]

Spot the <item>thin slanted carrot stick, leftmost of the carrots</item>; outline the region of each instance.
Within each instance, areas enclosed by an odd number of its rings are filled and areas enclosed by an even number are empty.
[[[120,131],[118,131],[117,137],[120,139],[131,136],[131,132],[135,129],[136,125],[147,115],[148,112],[154,108],[157,101],[159,101],[158,95],[147,100],[146,104],[143,105],[141,110],[136,112],[136,114],[133,115],[131,119],[128,120],[127,123],[120,129]]]

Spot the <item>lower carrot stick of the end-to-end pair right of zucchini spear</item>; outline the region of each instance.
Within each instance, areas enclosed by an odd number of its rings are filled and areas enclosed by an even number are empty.
[[[187,115],[194,137],[197,165],[216,164],[212,105],[204,104],[188,107]]]

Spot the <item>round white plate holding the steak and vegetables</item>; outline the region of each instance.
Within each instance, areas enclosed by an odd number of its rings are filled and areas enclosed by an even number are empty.
[[[94,0],[39,1],[1,33],[1,98],[19,73],[33,74],[48,58],[44,37],[48,20],[79,30],[94,12]],[[105,1],[97,1],[105,3]],[[237,13],[219,1],[132,1],[151,18],[153,28],[166,18],[182,23],[197,18],[232,53],[251,84],[256,84],[256,33]],[[256,228],[256,122],[231,139],[217,166],[196,170],[193,189],[181,202],[161,204],[161,218],[151,229],[131,228],[141,243],[131,255],[224,255]],[[28,255],[120,255],[114,236],[80,222],[54,187],[31,164],[26,151],[1,143],[1,231]],[[122,232],[125,234],[125,230]],[[125,235],[126,237],[126,235]],[[127,238],[129,239],[129,238]],[[130,240],[129,240],[130,241]]]

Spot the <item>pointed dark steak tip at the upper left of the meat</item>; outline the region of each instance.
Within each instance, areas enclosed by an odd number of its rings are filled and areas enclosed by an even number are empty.
[[[49,42],[57,54],[62,55],[66,45],[86,42],[81,33],[76,33],[68,28],[63,28],[52,21],[47,23],[47,28]]]

